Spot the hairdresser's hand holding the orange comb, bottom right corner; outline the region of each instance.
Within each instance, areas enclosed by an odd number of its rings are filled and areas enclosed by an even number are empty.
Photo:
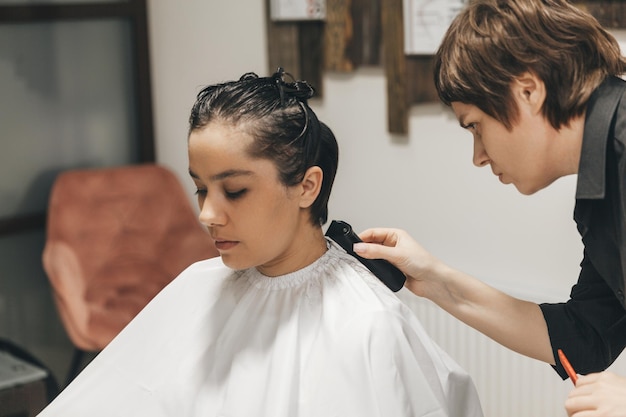
[[[626,417],[626,378],[608,371],[579,376],[565,409],[570,417]]]

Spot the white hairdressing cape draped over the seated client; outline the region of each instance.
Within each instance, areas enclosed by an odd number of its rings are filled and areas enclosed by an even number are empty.
[[[355,258],[190,266],[41,417],[480,417],[470,377]]]

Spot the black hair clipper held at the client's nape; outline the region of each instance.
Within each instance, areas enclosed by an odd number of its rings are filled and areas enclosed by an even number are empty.
[[[385,259],[365,259],[354,253],[352,245],[362,242],[354,233],[352,226],[341,220],[333,220],[326,230],[326,236],[334,240],[350,255],[357,258],[374,275],[378,277],[391,291],[399,291],[404,286],[406,277],[398,268]]]

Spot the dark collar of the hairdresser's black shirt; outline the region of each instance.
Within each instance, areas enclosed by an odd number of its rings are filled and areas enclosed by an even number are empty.
[[[608,77],[589,98],[578,166],[577,199],[604,198],[606,147],[611,121],[623,90],[621,79]]]

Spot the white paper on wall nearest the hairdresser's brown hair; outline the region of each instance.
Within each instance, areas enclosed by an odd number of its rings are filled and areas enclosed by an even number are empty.
[[[433,55],[467,0],[403,0],[404,52]]]

